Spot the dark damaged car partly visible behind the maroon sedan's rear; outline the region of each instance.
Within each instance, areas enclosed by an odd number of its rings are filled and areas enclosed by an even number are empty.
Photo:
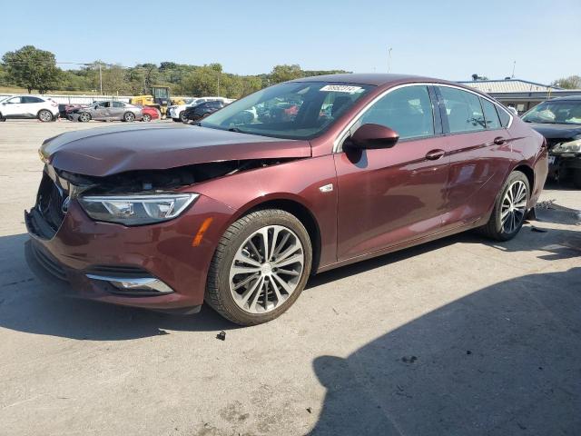
[[[538,104],[523,115],[523,121],[547,138],[549,176],[570,177],[581,189],[581,96]]]

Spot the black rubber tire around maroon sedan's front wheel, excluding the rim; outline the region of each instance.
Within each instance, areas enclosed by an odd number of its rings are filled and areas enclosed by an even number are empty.
[[[231,263],[241,244],[252,233],[268,225],[282,225],[298,236],[304,253],[303,269],[294,292],[291,293],[287,300],[281,303],[280,307],[276,307],[271,312],[245,312],[234,302],[231,295]],[[235,223],[232,223],[222,235],[222,239],[218,243],[208,271],[204,300],[216,312],[219,312],[231,322],[240,325],[256,325],[262,322],[269,322],[279,317],[283,312],[286,312],[297,298],[299,298],[300,292],[302,292],[309,279],[311,263],[312,245],[310,243],[309,233],[307,233],[304,225],[294,215],[279,209],[264,209],[249,213]]]

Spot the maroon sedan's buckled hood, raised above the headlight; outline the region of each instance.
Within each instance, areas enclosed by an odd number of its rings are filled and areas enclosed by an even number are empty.
[[[194,163],[310,157],[308,141],[199,126],[130,124],[60,134],[44,141],[45,162],[70,173],[105,176]]]

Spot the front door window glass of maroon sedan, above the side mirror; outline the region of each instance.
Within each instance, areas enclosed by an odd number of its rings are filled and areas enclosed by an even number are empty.
[[[434,134],[434,114],[427,86],[405,86],[386,94],[359,119],[395,130],[400,139]]]

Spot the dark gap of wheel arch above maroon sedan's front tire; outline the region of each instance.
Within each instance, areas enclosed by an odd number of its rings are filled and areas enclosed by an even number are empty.
[[[228,225],[234,223],[236,220],[241,218],[241,216],[263,209],[280,209],[281,211],[291,213],[291,215],[295,216],[300,223],[305,226],[307,233],[309,233],[310,243],[312,245],[312,265],[310,267],[310,273],[314,274],[317,272],[319,269],[321,251],[319,222],[315,215],[310,211],[309,207],[297,199],[283,196],[271,196],[271,198],[262,199],[259,203],[247,204],[231,216]]]

